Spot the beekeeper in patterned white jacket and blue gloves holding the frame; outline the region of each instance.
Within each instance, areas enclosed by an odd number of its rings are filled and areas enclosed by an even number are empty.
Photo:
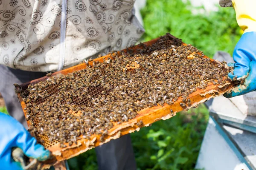
[[[254,0],[221,0],[236,10],[245,31],[234,52],[235,71],[229,76],[247,76],[245,85],[227,96],[255,90],[256,41]],[[26,125],[13,84],[21,84],[76,65],[84,59],[120,50],[135,42],[143,28],[134,17],[134,0],[0,0],[0,93],[11,116]],[[228,18],[227,18],[228,19]],[[253,84],[254,83],[254,84]],[[0,163],[17,169],[12,147],[20,147],[38,160],[49,151],[11,116],[0,113]],[[135,170],[130,136],[96,147],[100,170]]]

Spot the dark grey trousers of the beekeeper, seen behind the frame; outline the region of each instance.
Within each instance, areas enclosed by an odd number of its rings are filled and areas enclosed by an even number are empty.
[[[15,70],[0,65],[0,93],[8,113],[27,127],[24,113],[14,90],[14,83],[22,84],[44,77],[46,73]],[[99,170],[136,170],[130,135],[96,147]]]

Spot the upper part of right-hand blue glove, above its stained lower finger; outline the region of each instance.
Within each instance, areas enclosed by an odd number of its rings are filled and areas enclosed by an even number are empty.
[[[247,32],[241,36],[233,52],[235,61],[233,74],[228,74],[230,79],[247,75],[250,62],[256,61],[256,32]]]

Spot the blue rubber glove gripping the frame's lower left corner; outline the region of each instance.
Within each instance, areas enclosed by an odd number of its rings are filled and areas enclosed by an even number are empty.
[[[20,147],[28,157],[44,161],[49,158],[49,150],[36,143],[36,139],[9,115],[0,113],[0,169],[21,170],[21,165],[12,159],[12,148]]]

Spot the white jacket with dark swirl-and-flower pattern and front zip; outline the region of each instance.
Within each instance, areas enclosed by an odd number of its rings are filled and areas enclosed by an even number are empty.
[[[144,32],[134,1],[0,0],[0,64],[56,71],[134,45]]]

